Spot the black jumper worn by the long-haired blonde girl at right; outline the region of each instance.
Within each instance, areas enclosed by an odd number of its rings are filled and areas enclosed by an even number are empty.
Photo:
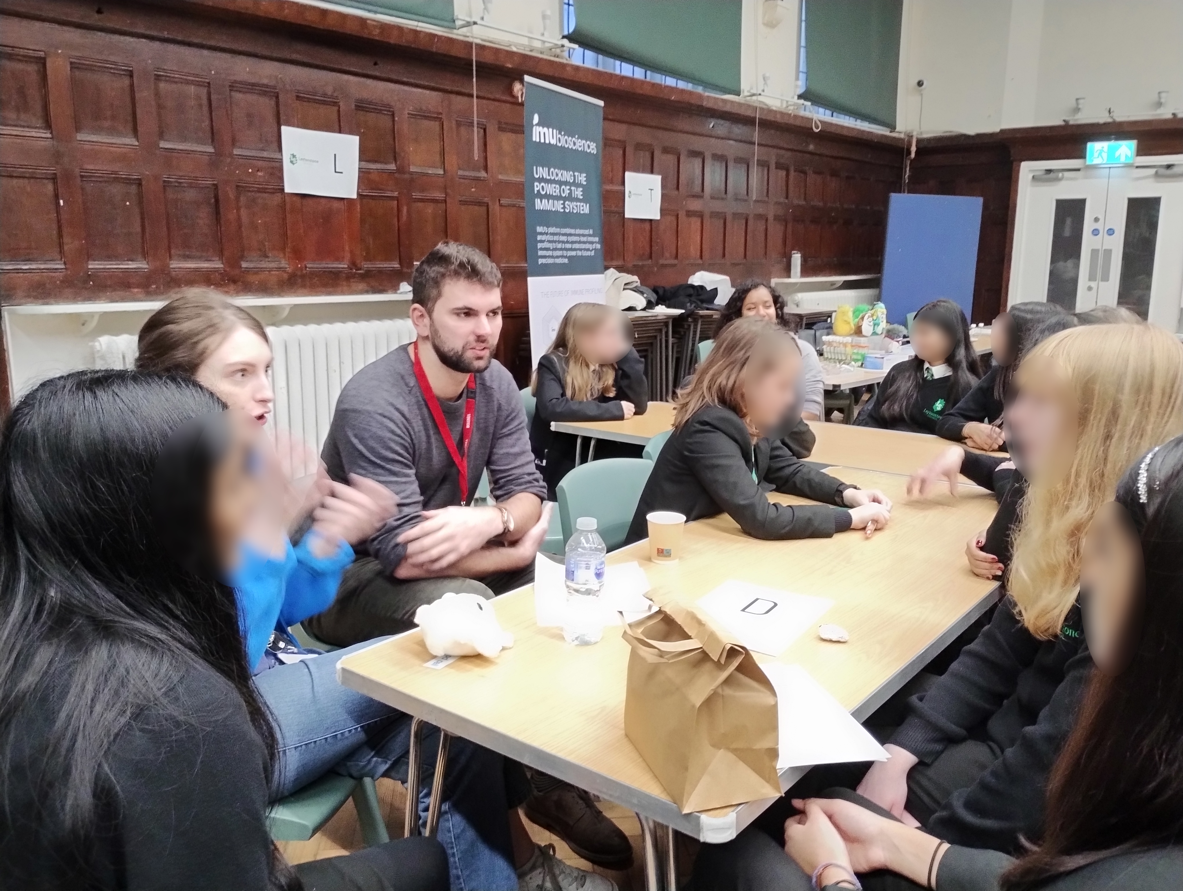
[[[968,738],[1002,750],[977,782],[950,796],[927,831],[1006,853],[1020,851],[1020,835],[1039,839],[1047,776],[1092,669],[1079,607],[1054,639],[1040,640],[1015,615],[1014,601],[1000,603],[949,671],[909,700],[910,715],[890,741],[925,763]]]

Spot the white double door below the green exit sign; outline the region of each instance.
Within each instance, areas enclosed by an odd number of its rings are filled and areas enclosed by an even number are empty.
[[[1020,167],[1008,305],[1125,306],[1183,330],[1183,156]]]

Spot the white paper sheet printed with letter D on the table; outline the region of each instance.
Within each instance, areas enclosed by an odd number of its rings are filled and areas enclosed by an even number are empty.
[[[732,579],[699,600],[698,606],[749,650],[780,656],[834,601]]]

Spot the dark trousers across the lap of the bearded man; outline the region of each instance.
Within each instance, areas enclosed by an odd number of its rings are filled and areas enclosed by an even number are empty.
[[[334,646],[353,646],[415,627],[415,611],[434,603],[445,593],[478,594],[486,600],[534,581],[534,561],[511,573],[484,579],[395,579],[374,557],[357,557],[345,569],[332,606],[303,625],[319,640]]]

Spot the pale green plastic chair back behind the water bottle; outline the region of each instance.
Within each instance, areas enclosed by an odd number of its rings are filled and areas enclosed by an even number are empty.
[[[596,531],[615,550],[625,543],[636,503],[653,470],[644,458],[603,458],[581,464],[558,484],[558,516],[563,541],[575,532],[575,521],[595,517]]]

